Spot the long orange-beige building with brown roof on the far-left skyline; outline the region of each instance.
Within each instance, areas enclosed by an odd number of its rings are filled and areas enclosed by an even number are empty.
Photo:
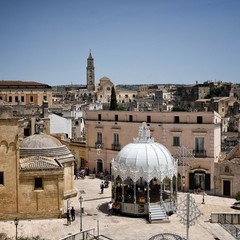
[[[26,81],[0,81],[0,100],[11,105],[52,105],[52,88],[47,84]]]

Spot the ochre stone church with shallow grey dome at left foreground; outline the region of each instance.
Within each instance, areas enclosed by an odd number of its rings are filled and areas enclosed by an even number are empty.
[[[0,219],[55,218],[76,196],[74,156],[56,138],[26,138],[22,122],[0,114]]]

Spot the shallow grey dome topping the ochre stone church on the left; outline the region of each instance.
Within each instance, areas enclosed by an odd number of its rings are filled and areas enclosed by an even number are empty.
[[[52,148],[59,146],[62,146],[62,143],[57,138],[43,133],[26,137],[20,143],[20,148]]]

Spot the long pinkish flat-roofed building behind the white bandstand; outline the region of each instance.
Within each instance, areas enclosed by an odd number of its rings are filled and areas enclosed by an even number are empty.
[[[90,170],[110,171],[111,161],[132,142],[142,122],[150,127],[155,142],[179,158],[179,188],[199,186],[214,192],[214,162],[221,152],[221,116],[216,112],[86,111]]]

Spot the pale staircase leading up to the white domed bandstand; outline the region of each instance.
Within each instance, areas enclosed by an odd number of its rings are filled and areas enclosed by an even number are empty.
[[[149,205],[149,222],[169,222],[164,205]]]

